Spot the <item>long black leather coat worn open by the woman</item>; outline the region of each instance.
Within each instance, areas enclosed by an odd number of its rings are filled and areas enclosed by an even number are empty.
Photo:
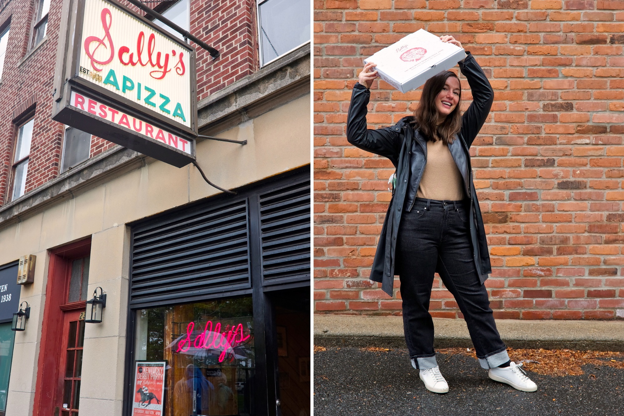
[[[466,76],[472,91],[472,103],[462,116],[462,128],[456,140],[449,145],[451,156],[464,179],[464,192],[470,199],[470,237],[474,262],[481,283],[492,272],[489,250],[479,201],[472,182],[469,147],[483,126],[494,101],[494,91],[483,70],[470,52],[459,69]],[[388,213],[381,229],[381,237],[373,260],[369,279],[381,282],[381,289],[392,296],[394,275],[401,270],[394,267],[396,238],[404,210],[410,210],[416,197],[418,184],[427,163],[427,143],[418,130],[412,129],[414,117],[404,117],[397,124],[384,129],[366,128],[366,106],[371,92],[356,83],[353,87],[347,120],[347,140],[353,146],[388,157],[396,167],[396,188],[388,206]]]

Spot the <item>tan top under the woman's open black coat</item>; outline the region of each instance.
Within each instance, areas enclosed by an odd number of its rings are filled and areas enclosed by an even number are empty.
[[[464,199],[462,174],[457,169],[449,147],[441,140],[427,141],[427,164],[416,196],[437,201]]]

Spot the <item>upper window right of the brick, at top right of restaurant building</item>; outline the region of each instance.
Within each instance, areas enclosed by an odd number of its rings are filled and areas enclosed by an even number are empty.
[[[310,42],[310,1],[258,1],[260,64]]]

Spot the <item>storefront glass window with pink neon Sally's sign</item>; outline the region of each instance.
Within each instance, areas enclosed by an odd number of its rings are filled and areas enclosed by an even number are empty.
[[[164,416],[250,415],[250,296],[142,309],[136,319],[133,415],[158,402]],[[164,382],[142,375],[158,374],[159,366]]]

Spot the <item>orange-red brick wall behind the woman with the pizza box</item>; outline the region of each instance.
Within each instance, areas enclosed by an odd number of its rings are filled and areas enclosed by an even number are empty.
[[[624,317],[624,1],[316,0],[316,312],[400,314],[367,279],[390,200],[391,163],[345,137],[363,57],[426,29],[452,34],[494,88],[470,149],[498,318]],[[457,69],[457,67],[456,67]],[[462,78],[464,103],[470,92]],[[371,91],[370,128],[409,114],[420,91]],[[461,317],[436,279],[431,314]]]

